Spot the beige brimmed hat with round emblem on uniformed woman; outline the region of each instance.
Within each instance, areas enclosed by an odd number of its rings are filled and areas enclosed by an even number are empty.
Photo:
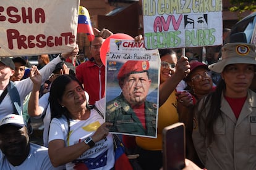
[[[256,65],[255,45],[244,42],[225,44],[221,48],[221,59],[208,66],[210,70],[221,73],[229,64],[248,63]]]

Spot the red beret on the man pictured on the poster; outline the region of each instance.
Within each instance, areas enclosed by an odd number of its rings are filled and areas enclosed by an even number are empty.
[[[120,68],[117,79],[124,78],[130,74],[147,72],[148,68],[148,61],[129,60]]]

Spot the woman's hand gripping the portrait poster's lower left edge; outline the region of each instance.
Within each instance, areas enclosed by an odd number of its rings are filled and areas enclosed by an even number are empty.
[[[113,126],[113,123],[105,122],[101,124],[101,126],[96,130],[95,134],[93,134],[92,136],[93,142],[96,143],[101,139],[104,139],[106,136],[108,136],[109,126]]]

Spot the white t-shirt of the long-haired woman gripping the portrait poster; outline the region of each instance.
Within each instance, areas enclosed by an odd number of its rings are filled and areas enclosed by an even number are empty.
[[[66,146],[74,145],[83,142],[87,137],[92,136],[96,129],[104,123],[104,119],[99,113],[92,109],[90,117],[87,120],[74,120],[70,119],[70,135],[67,141],[67,120],[64,116],[51,121],[49,130],[49,142],[55,139],[65,140]],[[113,137],[109,134],[105,139],[96,142],[95,147],[90,148],[84,152],[77,160],[66,164],[66,169],[74,169],[80,165],[86,166],[88,169],[111,169],[114,166],[114,150],[113,150]]]

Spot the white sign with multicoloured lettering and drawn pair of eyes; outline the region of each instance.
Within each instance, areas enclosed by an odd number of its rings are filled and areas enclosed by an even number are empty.
[[[222,0],[143,0],[147,49],[222,44]]]

